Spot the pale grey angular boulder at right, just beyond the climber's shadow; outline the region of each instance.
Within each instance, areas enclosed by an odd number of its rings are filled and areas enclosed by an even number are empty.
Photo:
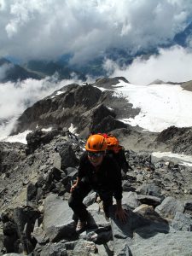
[[[160,206],[155,208],[155,212],[158,212],[164,218],[174,218],[176,212],[184,212],[184,205],[183,202],[168,196],[161,202]]]

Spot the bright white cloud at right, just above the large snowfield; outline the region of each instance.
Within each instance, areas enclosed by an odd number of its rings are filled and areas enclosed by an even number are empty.
[[[124,76],[132,84],[149,84],[156,79],[180,83],[192,79],[192,53],[174,46],[160,49],[160,55],[151,55],[148,60],[138,57],[129,67],[120,68],[110,60],[104,67],[113,77]]]

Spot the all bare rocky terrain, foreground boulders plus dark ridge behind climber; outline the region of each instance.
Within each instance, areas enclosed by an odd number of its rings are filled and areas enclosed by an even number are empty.
[[[152,133],[119,121],[125,112],[140,111],[113,95],[110,86],[119,79],[55,91],[20,115],[13,133],[33,130],[27,144],[0,143],[0,255],[192,255],[192,167],[152,154],[191,154],[192,128]],[[42,130],[49,126],[51,131]],[[113,131],[125,147],[127,221],[114,217],[114,206],[106,219],[92,191],[84,199],[90,225],[77,234],[67,200],[85,138],[98,131]]]

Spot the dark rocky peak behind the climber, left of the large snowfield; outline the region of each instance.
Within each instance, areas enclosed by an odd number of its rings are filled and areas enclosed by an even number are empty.
[[[113,84],[114,81],[116,84],[119,83],[118,79],[112,81]],[[133,111],[132,105],[125,98],[113,96],[111,90],[102,91],[90,84],[69,84],[27,108],[18,119],[13,133],[33,130],[37,125],[68,129],[73,124],[78,133],[87,136],[90,131],[111,131],[127,127],[117,120],[125,116],[125,113],[126,116],[133,116],[139,113],[139,109]],[[108,119],[105,119],[108,116],[112,125],[110,127],[107,125]]]

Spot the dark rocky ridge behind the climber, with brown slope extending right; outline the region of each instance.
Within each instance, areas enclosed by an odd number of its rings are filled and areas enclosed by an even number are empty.
[[[93,84],[68,84],[32,107],[26,108],[17,119],[11,135],[35,130],[36,127],[70,129],[73,125],[74,132],[82,138],[93,132],[113,131],[132,150],[165,150],[192,154],[192,147],[188,143],[191,127],[172,129],[174,126],[171,126],[161,132],[149,132],[143,131],[139,126],[131,127],[120,121],[119,119],[125,116],[136,117],[140,109],[133,108],[123,96],[113,95],[113,85],[117,86],[119,81],[129,86],[129,82],[122,77],[97,79]],[[169,134],[172,140],[163,139],[165,134]]]

